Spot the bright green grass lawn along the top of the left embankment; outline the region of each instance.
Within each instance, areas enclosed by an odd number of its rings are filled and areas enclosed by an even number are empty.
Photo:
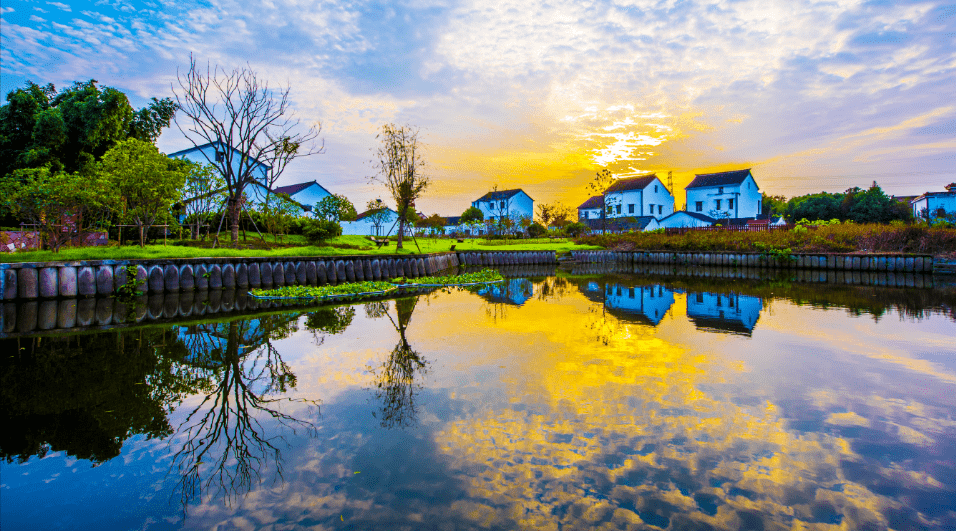
[[[418,246],[415,245],[417,240]],[[272,239],[266,239],[266,245],[258,238],[250,238],[248,242],[240,240],[241,246],[256,248],[233,249],[226,241],[224,247],[210,248],[208,245],[195,245],[188,240],[170,240],[166,246],[124,245],[123,247],[64,247],[59,253],[52,251],[28,251],[16,253],[0,253],[0,262],[53,262],[73,260],[132,260],[132,259],[165,259],[165,258],[217,258],[230,256],[270,257],[270,256],[339,256],[339,255],[394,255],[448,252],[454,245],[457,251],[557,251],[567,253],[571,250],[600,249],[595,245],[577,245],[570,240],[483,240],[466,239],[458,243],[454,239],[406,238],[403,249],[395,250],[395,242],[389,242],[387,247],[376,248],[365,236],[339,236],[328,246],[314,247],[307,245],[302,236],[290,235],[283,238],[276,246]],[[208,244],[208,242],[207,242]]]

